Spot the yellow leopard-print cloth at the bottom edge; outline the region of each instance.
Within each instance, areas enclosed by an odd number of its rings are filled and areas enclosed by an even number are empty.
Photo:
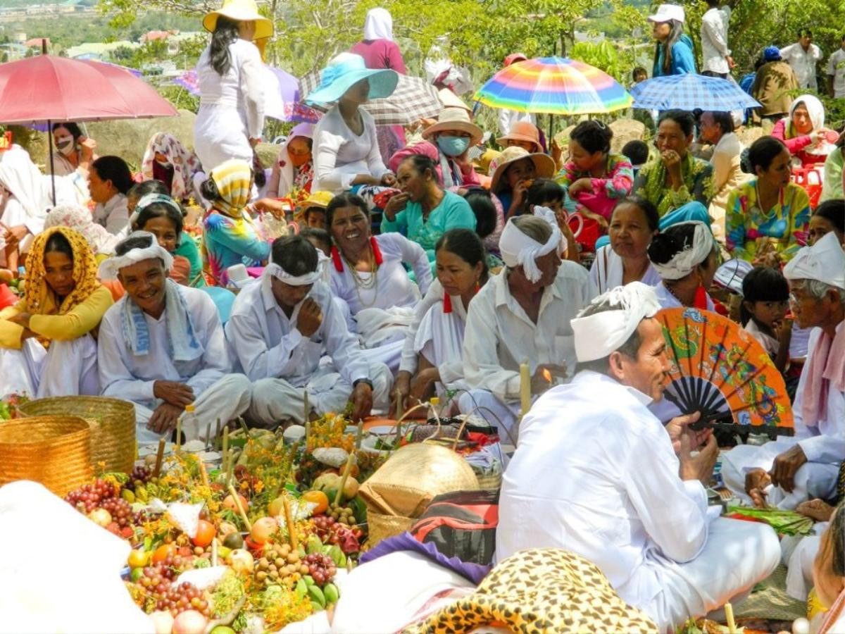
[[[475,593],[403,634],[457,634],[479,626],[505,626],[522,634],[657,632],[646,615],[619,598],[597,566],[555,548],[511,555]]]

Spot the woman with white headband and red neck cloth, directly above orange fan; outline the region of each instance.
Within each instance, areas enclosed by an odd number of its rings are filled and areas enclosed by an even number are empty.
[[[660,276],[655,292],[664,309],[713,310],[707,289],[719,266],[719,251],[704,222],[679,222],[651,238],[648,259]]]

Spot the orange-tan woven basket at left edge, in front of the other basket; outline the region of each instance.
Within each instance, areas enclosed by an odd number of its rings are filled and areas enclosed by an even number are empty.
[[[64,496],[93,476],[91,430],[83,418],[38,416],[0,423],[0,485],[33,480]]]

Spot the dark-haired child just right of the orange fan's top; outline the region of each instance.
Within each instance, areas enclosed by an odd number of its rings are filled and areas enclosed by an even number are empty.
[[[792,339],[789,309],[789,284],[781,271],[767,266],[755,267],[742,283],[743,303],[740,319],[784,373],[789,363]]]

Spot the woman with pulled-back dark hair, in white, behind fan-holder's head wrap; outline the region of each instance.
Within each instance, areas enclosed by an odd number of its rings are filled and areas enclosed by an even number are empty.
[[[596,252],[590,268],[590,296],[641,281],[657,286],[660,276],[648,259],[648,245],[659,231],[657,208],[641,196],[619,200],[610,216],[610,244]]]

